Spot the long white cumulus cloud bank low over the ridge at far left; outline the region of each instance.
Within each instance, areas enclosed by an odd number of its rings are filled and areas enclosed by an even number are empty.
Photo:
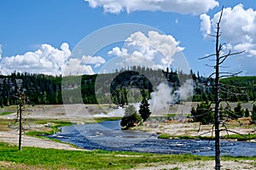
[[[2,54],[0,44],[0,56]],[[47,75],[82,75],[95,74],[92,69],[106,63],[101,56],[85,56],[80,59],[70,58],[72,55],[67,42],[61,48],[54,48],[49,44],[42,44],[38,50],[6,56],[0,60],[1,73],[9,75],[14,71]]]

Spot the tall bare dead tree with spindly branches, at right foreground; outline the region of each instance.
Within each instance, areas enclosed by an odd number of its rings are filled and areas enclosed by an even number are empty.
[[[214,102],[215,102],[215,107],[214,107],[215,169],[217,169],[217,170],[220,170],[220,167],[221,167],[221,165],[220,165],[220,129],[219,129],[219,124],[220,124],[219,111],[220,111],[220,102],[221,102],[221,99],[219,98],[219,94],[220,94],[221,88],[220,88],[219,79],[222,77],[234,77],[241,73],[241,71],[236,72],[236,73],[232,73],[232,72],[228,72],[228,71],[220,71],[220,68],[224,67],[223,66],[224,61],[226,59],[230,58],[230,56],[236,55],[236,54],[241,54],[244,52],[244,51],[241,51],[241,52],[237,52],[237,53],[231,53],[231,50],[229,50],[229,52],[227,54],[223,54],[224,43],[220,43],[220,40],[219,40],[219,37],[221,36],[220,21],[222,19],[222,16],[223,16],[223,8],[221,9],[221,13],[220,13],[220,16],[218,19],[215,35],[210,35],[210,36],[214,37],[215,41],[216,41],[215,42],[215,53],[201,58],[201,59],[210,59],[210,60],[215,61],[214,65],[207,65],[207,66],[210,66],[215,70],[214,72],[212,72],[212,74],[209,76],[209,78],[212,76],[215,76],[215,83],[214,83],[213,89],[214,89],[214,93],[215,93],[215,98],[214,98]],[[228,133],[228,130],[227,130],[227,133]]]

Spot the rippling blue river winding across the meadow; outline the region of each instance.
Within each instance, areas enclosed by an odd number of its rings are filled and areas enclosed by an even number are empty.
[[[87,150],[127,150],[214,156],[214,140],[157,139],[155,134],[138,130],[121,130],[119,121],[62,127],[61,133],[55,133],[49,137]],[[223,156],[256,156],[256,143],[221,141],[221,154]]]

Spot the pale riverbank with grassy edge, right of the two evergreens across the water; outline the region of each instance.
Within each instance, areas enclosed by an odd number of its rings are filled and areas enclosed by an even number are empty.
[[[220,126],[220,135],[222,139],[256,142],[255,127],[250,124],[250,118],[247,117],[241,118],[239,122],[230,120],[225,126]],[[214,139],[213,125],[201,125],[199,122],[189,122],[187,119],[183,121],[153,119],[134,128],[158,134],[162,139]]]

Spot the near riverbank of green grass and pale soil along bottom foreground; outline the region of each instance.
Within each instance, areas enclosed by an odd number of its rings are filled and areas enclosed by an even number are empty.
[[[0,143],[0,169],[214,169],[214,157],[104,150],[55,150]],[[253,169],[255,157],[223,156],[223,169]]]

